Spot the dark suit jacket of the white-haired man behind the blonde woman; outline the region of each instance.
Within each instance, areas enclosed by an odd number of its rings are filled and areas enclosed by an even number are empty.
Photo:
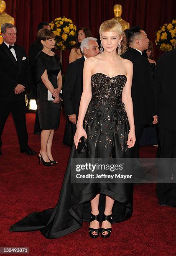
[[[76,114],[78,116],[79,103],[83,90],[82,73],[84,61],[84,56],[82,56],[82,58],[71,62],[66,68],[63,90],[66,115]]]

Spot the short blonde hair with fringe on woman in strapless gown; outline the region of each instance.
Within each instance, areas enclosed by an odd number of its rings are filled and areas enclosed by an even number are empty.
[[[117,20],[105,20],[99,28],[99,36],[101,37],[102,32],[113,31],[122,36],[122,26]]]

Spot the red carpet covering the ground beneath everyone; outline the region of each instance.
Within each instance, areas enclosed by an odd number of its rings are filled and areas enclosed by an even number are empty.
[[[34,114],[28,113],[29,146],[39,151],[33,135]],[[176,209],[158,205],[155,184],[134,188],[134,212],[130,220],[112,226],[110,238],[89,238],[88,223],[63,238],[47,240],[39,231],[13,233],[10,225],[33,211],[54,207],[58,200],[70,148],[62,144],[65,120],[56,131],[53,155],[58,166],[39,166],[36,156],[20,154],[11,116],[3,133],[0,157],[0,247],[29,247],[30,255],[176,255]],[[155,157],[156,148],[141,148],[141,156]],[[10,255],[10,254],[8,254]]]

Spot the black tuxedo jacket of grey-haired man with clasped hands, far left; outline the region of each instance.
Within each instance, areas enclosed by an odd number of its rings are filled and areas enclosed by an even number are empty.
[[[18,84],[28,87],[29,64],[23,47],[15,46],[17,61],[5,43],[0,45],[1,101],[25,100],[25,92],[15,94]]]

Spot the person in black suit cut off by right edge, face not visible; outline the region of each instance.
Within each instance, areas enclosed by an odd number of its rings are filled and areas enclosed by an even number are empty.
[[[158,113],[158,157],[176,159],[176,49],[158,58],[153,90]],[[160,161],[162,166],[159,171],[163,170],[167,174],[166,179],[176,181],[170,166],[162,162],[163,160]],[[176,174],[175,169],[174,172]],[[158,178],[160,174],[162,172],[159,172]],[[176,207],[176,184],[174,182],[157,184],[156,194],[160,205]]]

